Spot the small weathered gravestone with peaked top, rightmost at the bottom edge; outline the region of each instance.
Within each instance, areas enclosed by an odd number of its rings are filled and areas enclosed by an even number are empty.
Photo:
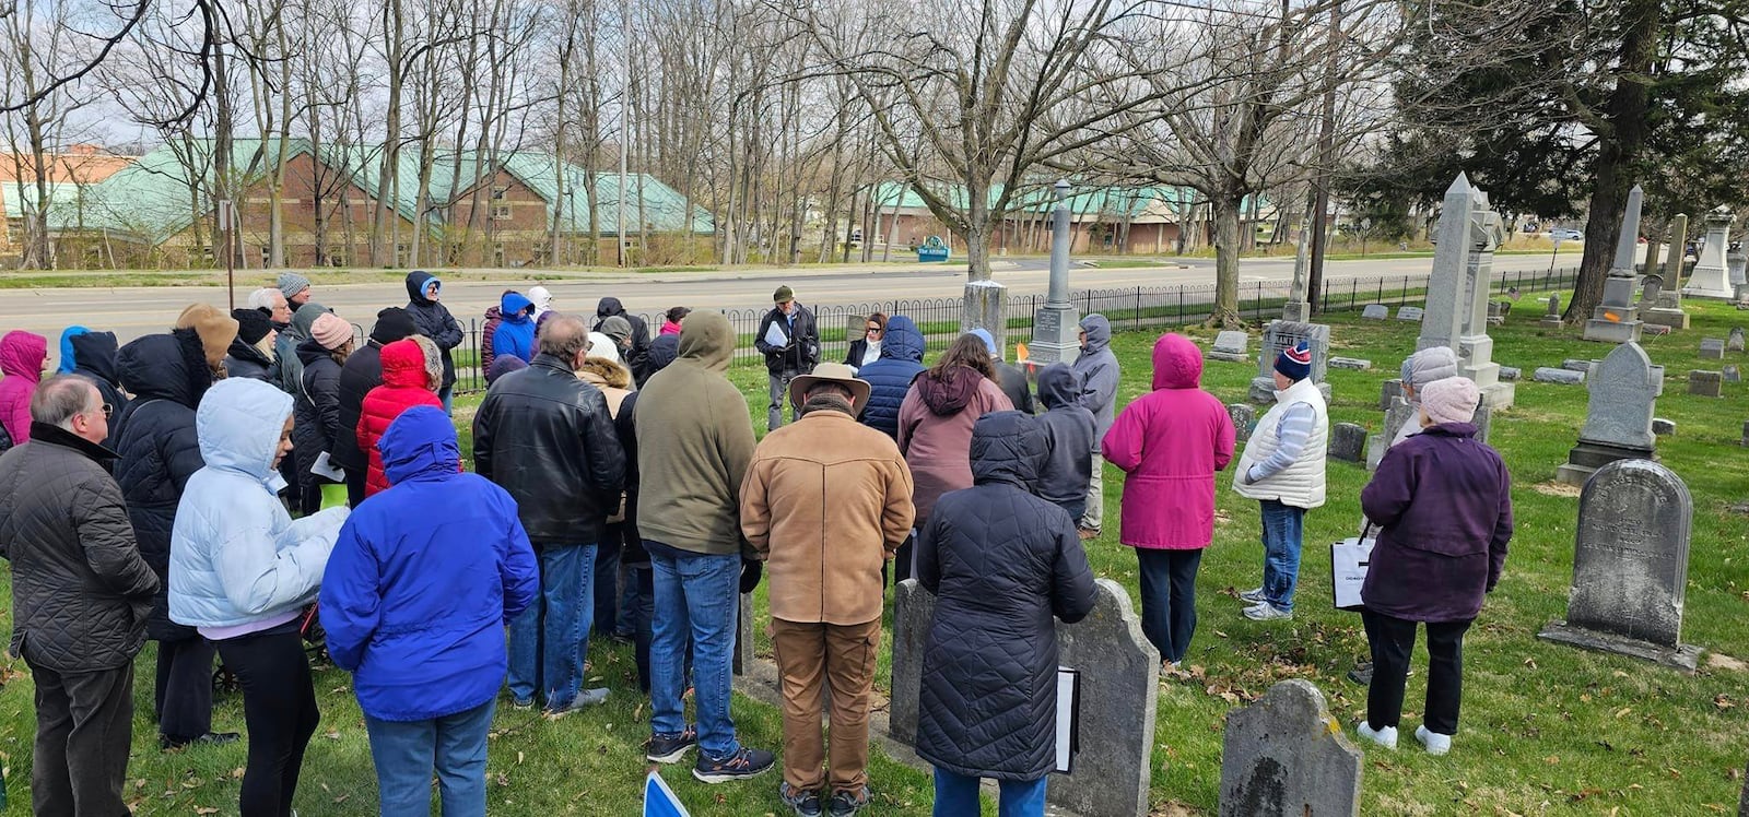
[[[1221,817],[1361,814],[1361,749],[1307,681],[1280,681],[1226,716]]]

